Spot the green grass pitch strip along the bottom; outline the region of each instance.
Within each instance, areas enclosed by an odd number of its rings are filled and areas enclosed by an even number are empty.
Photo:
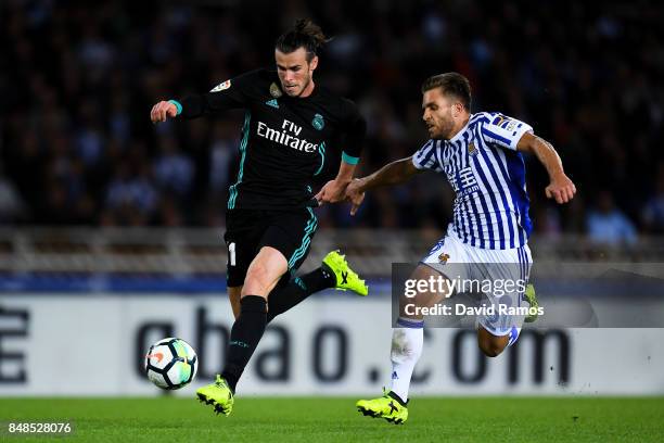
[[[230,417],[195,400],[0,398],[9,421],[74,422],[87,442],[661,442],[664,397],[414,398],[403,426],[365,417],[356,398],[238,397]],[[54,441],[49,439],[50,441]]]

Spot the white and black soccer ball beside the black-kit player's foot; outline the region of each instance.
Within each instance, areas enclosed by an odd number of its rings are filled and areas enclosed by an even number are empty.
[[[184,340],[169,337],[150,346],[145,355],[148,379],[158,388],[175,390],[191,383],[196,376],[199,358]]]

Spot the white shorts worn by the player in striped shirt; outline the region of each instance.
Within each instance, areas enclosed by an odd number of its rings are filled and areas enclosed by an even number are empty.
[[[512,307],[528,306],[523,302],[533,264],[527,244],[509,250],[481,249],[463,243],[448,230],[421,263],[463,282],[467,290],[475,293],[480,290],[485,302],[488,301],[486,305],[494,308],[487,315],[478,315],[477,321],[491,334],[507,336],[512,327],[523,325],[525,314],[515,314],[520,309]]]

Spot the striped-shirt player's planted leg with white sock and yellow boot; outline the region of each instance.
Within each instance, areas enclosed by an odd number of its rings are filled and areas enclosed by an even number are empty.
[[[426,265],[420,265],[409,277],[417,280],[429,280],[430,277],[438,278],[440,274]],[[432,306],[445,298],[446,293],[422,292],[414,300],[416,306]],[[365,416],[384,418],[395,425],[401,425],[408,419],[408,391],[414,367],[422,355],[424,344],[424,319],[417,312],[407,314],[406,304],[412,304],[412,299],[400,300],[399,318],[397,328],[392,332],[392,371],[390,390],[383,392],[383,396],[372,400],[360,400],[356,403],[357,410]]]

